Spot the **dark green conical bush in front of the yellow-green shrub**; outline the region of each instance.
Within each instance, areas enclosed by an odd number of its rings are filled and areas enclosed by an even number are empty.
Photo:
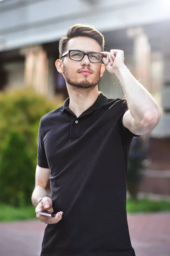
[[[27,151],[25,138],[9,134],[0,160],[0,200],[15,206],[30,204],[34,189],[34,164]]]

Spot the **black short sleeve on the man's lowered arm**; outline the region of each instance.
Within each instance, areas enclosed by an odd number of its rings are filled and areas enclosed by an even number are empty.
[[[37,165],[42,168],[49,168],[48,161],[45,154],[44,141],[42,136],[41,121],[38,129],[38,152],[37,152]]]

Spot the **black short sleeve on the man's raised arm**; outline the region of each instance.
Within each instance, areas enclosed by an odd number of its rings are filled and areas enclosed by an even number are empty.
[[[126,99],[120,99],[118,101],[118,106],[117,106],[117,118],[118,118],[118,122],[119,122],[119,127],[121,129],[121,134],[122,137],[126,138],[126,137],[139,137],[140,135],[136,135],[133,134],[131,131],[129,131],[124,125],[123,125],[123,116],[125,114],[125,112],[128,110],[128,104],[127,104],[127,100]]]

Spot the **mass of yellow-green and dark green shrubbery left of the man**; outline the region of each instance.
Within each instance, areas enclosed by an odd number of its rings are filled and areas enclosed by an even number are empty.
[[[28,88],[0,94],[0,201],[31,204],[40,118],[62,105]]]

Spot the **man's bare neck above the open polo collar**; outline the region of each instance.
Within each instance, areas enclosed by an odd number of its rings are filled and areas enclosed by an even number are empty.
[[[73,88],[67,84],[68,95],[70,97],[69,108],[75,115],[78,117],[84,111],[91,107],[94,104],[97,97],[99,96],[98,87],[89,89],[78,89]]]

